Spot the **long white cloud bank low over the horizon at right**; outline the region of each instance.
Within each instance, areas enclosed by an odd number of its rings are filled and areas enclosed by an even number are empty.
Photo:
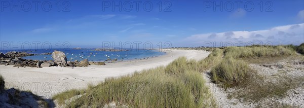
[[[272,42],[273,44],[298,45],[304,41],[304,23],[277,26],[256,31],[228,31],[217,33],[194,34],[187,37],[188,42]]]

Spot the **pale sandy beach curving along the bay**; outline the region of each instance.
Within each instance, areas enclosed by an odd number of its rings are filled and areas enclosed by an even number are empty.
[[[200,60],[208,55],[209,52],[198,50],[171,50],[159,57],[107,63],[101,66],[18,68],[0,65],[0,74],[5,78],[6,88],[30,90],[34,94],[50,98],[65,90],[86,88],[88,84],[97,85],[107,77],[118,77],[132,74],[136,70],[167,65],[180,56]]]

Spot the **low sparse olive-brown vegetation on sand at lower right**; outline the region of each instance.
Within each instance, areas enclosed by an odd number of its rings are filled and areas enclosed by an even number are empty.
[[[301,87],[304,84],[304,78],[289,78],[282,76],[282,73],[285,72],[286,71],[282,71],[272,77],[261,76],[257,73],[249,73],[250,78],[237,87],[237,91],[229,94],[229,97],[244,98],[245,100],[257,102],[260,99],[267,97],[284,97],[288,90],[294,89],[295,87]],[[272,79],[275,82],[267,81],[269,79]]]

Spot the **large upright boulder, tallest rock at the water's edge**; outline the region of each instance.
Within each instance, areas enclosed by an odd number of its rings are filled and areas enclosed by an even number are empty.
[[[53,59],[54,59],[55,63],[57,63],[57,65],[64,66],[64,67],[68,66],[66,56],[63,52],[54,51],[52,53],[52,55],[53,55]]]

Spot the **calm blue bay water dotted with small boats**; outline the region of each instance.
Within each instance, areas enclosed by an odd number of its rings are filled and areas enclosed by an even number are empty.
[[[37,49],[34,50],[27,50],[27,53],[33,53],[33,54],[41,54],[41,53],[47,53],[47,52],[53,52],[55,49],[51,50],[42,50]],[[89,61],[104,61],[107,58],[118,60],[132,60],[132,59],[141,59],[141,58],[147,58],[147,57],[155,57],[155,56],[161,56],[165,54],[164,52],[160,52],[159,50],[136,50],[132,49],[130,51],[118,51],[118,52],[110,52],[110,51],[91,51],[93,49],[66,49],[61,50],[65,53],[67,60],[74,61],[74,60],[83,60],[85,58],[88,58]],[[9,50],[3,50],[3,53],[7,53]],[[59,50],[60,51],[60,50]],[[92,53],[92,54],[90,54]],[[94,56],[95,55],[95,56]],[[109,56],[106,57],[105,55]],[[52,60],[52,55],[35,55],[35,56],[27,56],[22,57],[25,59],[33,59],[33,60]],[[81,58],[82,56],[83,58]],[[46,57],[46,58],[45,58]]]

